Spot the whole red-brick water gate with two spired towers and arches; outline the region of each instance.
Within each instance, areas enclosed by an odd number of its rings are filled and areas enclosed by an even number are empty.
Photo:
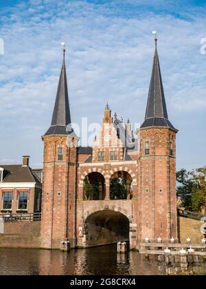
[[[92,147],[78,147],[70,124],[64,50],[52,123],[43,136],[41,246],[60,248],[60,242],[68,241],[75,248],[128,240],[130,248],[138,248],[146,237],[151,242],[158,237],[177,240],[177,130],[168,120],[157,39],[138,138],[129,120],[124,124],[117,114],[111,116],[108,104]]]

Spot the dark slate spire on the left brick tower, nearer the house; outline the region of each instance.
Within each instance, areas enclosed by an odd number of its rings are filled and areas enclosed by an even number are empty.
[[[63,49],[63,63],[60,72],[56,101],[52,116],[51,126],[45,135],[67,134],[67,125],[71,123],[69,96],[67,88],[67,72],[65,66],[65,46]]]

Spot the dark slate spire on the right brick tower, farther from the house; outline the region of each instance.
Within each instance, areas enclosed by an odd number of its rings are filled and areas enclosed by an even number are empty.
[[[168,120],[168,112],[163,92],[159,56],[157,52],[157,36],[155,34],[155,55],[148,92],[148,103],[144,123],[141,127],[172,127]]]

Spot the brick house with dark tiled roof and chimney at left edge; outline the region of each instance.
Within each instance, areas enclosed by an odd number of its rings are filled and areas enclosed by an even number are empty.
[[[32,170],[29,156],[22,164],[0,165],[0,213],[41,212],[41,169]]]

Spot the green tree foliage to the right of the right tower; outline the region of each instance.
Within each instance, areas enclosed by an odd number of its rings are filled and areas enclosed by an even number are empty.
[[[206,208],[206,167],[187,172],[181,169],[176,173],[177,195],[189,211],[205,213]]]

